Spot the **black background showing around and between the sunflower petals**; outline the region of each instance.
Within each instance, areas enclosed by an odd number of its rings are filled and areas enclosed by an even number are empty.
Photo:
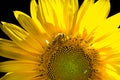
[[[83,0],[79,0],[80,4]],[[120,12],[120,0],[111,0],[111,11],[109,16],[114,15]],[[11,22],[18,24],[16,21],[13,11],[19,10],[30,15],[30,0],[0,0],[0,21]],[[3,32],[0,30],[0,37],[9,39]],[[6,58],[0,57],[0,62],[8,60]],[[0,74],[0,77],[3,74]]]

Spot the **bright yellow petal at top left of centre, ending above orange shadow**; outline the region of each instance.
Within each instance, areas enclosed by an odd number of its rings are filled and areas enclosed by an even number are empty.
[[[38,3],[40,10],[38,17],[40,18],[39,20],[41,21],[42,25],[44,25],[45,23],[51,23],[55,25],[54,15],[49,0],[39,0]]]

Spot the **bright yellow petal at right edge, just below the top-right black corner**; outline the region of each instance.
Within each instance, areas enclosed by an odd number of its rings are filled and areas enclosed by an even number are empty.
[[[94,33],[94,40],[96,42],[100,41],[99,38],[105,35],[110,35],[113,32],[118,31],[118,27],[120,25],[120,13],[117,13],[108,19],[106,19],[103,23],[101,23]]]

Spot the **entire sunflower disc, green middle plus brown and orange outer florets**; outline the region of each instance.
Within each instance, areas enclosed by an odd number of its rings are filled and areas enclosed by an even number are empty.
[[[41,64],[48,80],[101,80],[98,52],[80,37],[58,35],[42,55]]]

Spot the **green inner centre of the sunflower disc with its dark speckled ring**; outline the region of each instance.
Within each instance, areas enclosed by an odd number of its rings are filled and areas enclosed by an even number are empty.
[[[65,47],[61,50],[55,53],[48,65],[48,75],[51,80],[87,79],[91,67],[88,56],[81,50],[67,49]]]

